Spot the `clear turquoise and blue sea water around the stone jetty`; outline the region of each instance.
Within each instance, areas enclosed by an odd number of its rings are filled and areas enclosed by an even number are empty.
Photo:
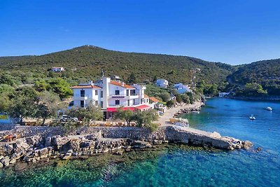
[[[273,111],[266,111],[271,106]],[[253,113],[255,121],[248,120]],[[167,146],[0,172],[0,186],[280,186],[280,103],[210,99],[190,126],[248,139],[251,151]],[[255,149],[260,146],[262,151]],[[26,169],[18,169],[26,167]]]

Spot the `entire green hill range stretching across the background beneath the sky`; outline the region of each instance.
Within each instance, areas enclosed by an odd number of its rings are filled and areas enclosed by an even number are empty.
[[[279,59],[231,66],[195,57],[125,53],[90,45],[46,55],[0,57],[1,71],[48,74],[51,67],[64,67],[64,76],[76,80],[95,80],[102,72],[105,76],[118,75],[124,80],[134,74],[139,82],[164,78],[170,83],[195,86],[204,81],[216,84],[224,91],[243,89],[246,83],[258,83],[268,94],[280,95]]]

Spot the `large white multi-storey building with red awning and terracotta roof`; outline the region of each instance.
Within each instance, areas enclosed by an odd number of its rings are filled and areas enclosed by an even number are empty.
[[[101,106],[106,118],[113,116],[120,106],[132,111],[144,111],[151,108],[144,94],[146,85],[127,85],[104,77],[95,83],[90,81],[71,88],[73,89],[73,106],[87,107],[90,103]]]

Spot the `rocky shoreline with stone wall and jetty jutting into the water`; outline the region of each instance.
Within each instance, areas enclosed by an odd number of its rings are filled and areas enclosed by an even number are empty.
[[[170,142],[225,150],[248,149],[253,146],[250,141],[222,137],[217,132],[188,129],[160,127],[151,133],[139,127],[82,127],[63,137],[55,134],[61,134],[59,127],[18,126],[13,131],[21,132],[22,138],[0,143],[0,167],[8,167],[18,161],[37,162],[53,158],[67,160],[108,152],[122,155],[123,151],[153,148]]]

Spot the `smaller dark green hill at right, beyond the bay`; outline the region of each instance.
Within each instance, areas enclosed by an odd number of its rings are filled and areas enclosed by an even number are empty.
[[[280,95],[280,59],[245,64],[228,79],[240,87],[246,83],[258,83],[267,90],[268,95]]]

